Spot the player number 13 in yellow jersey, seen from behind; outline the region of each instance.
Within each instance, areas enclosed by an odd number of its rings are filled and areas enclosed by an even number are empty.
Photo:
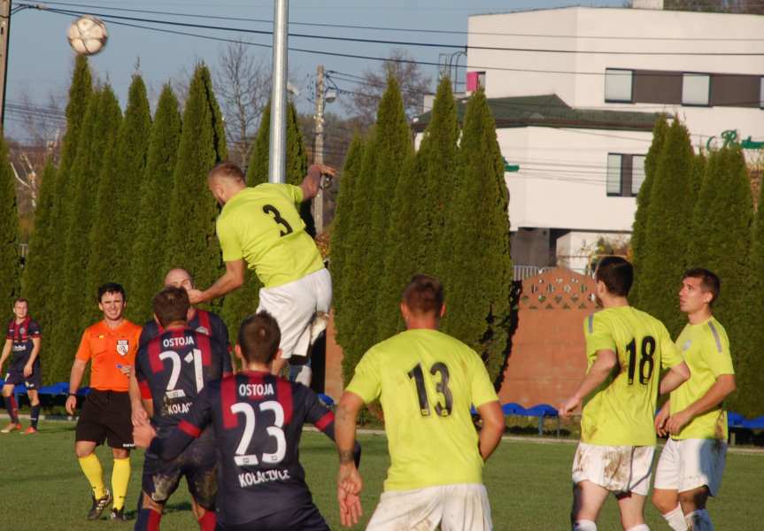
[[[437,330],[443,286],[418,274],[400,305],[406,330],[364,354],[336,411],[337,498],[343,525],[357,523],[362,481],[353,461],[359,411],[379,398],[390,450],[384,493],[367,531],[486,531],[483,462],[504,433],[504,415],[475,350]],[[470,415],[483,420],[480,434]]]

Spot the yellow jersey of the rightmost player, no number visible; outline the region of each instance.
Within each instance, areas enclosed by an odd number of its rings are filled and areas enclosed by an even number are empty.
[[[690,380],[671,392],[671,414],[681,412],[704,396],[722,374],[734,374],[729,354],[727,331],[718,320],[697,325],[687,324],[676,338],[676,348],[682,350]],[[672,439],[727,440],[727,413],[722,404],[692,419]]]

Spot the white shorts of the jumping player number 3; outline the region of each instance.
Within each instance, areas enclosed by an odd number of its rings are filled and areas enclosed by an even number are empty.
[[[332,277],[320,269],[303,278],[260,289],[258,312],[265,310],[282,329],[282,358],[307,356],[308,347],[327,327],[332,304]]]

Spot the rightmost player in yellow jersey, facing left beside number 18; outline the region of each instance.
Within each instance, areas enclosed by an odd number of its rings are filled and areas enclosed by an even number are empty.
[[[727,453],[722,401],[735,390],[727,333],[712,315],[719,290],[719,278],[706,269],[684,273],[679,308],[689,322],[676,347],[691,376],[655,419],[658,433],[671,436],[660,452],[652,503],[676,531],[714,529],[706,501],[722,483]]]

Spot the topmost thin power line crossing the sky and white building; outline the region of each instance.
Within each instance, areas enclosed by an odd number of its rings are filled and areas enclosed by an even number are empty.
[[[237,22],[259,22],[263,24],[273,24],[273,19],[252,19],[248,17],[228,17],[222,15],[207,15],[197,13],[182,13],[182,12],[166,12],[166,11],[153,11],[145,9],[130,9],[124,7],[109,7],[106,5],[94,5],[94,4],[76,4],[72,2],[46,2],[46,4],[54,5],[68,5],[72,7],[84,7],[84,8],[96,8],[105,9],[114,12],[137,12],[152,15],[169,15],[177,17],[186,17],[192,19],[216,19],[216,20],[233,20]],[[435,35],[492,35],[492,36],[509,36],[509,37],[549,37],[555,39],[608,39],[608,40],[633,40],[633,41],[729,41],[729,42],[751,42],[751,41],[764,41],[764,39],[750,39],[745,37],[655,37],[655,36],[624,36],[624,35],[553,35],[553,34],[524,34],[524,33],[504,33],[504,32],[480,32],[480,31],[465,31],[459,29],[431,29],[431,28],[413,28],[413,27],[383,27],[383,26],[363,26],[352,24],[330,24],[321,22],[295,22],[289,21],[290,26],[307,26],[307,27],[332,27],[341,29],[362,29],[373,31],[389,31],[399,33],[416,33],[416,34],[435,34]]]

